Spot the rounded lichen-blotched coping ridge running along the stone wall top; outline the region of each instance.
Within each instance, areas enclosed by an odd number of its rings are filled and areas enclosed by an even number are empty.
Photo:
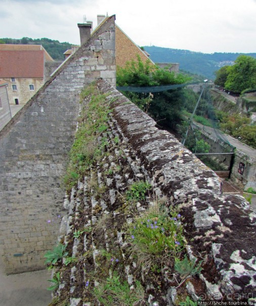
[[[103,80],[102,92],[118,98],[113,116],[156,186],[186,216],[188,244],[208,257],[202,273],[208,292],[252,292],[255,286],[255,213],[241,196],[222,195],[221,179],[175,137]],[[215,264],[213,264],[215,263]],[[206,265],[205,265],[206,267]],[[212,269],[220,275],[212,282]],[[253,285],[254,284],[254,285]],[[215,287],[215,289],[214,289]]]

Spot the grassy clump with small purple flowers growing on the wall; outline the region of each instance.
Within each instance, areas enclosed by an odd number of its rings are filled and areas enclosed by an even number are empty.
[[[131,251],[145,270],[170,264],[185,246],[181,215],[156,202],[129,226]]]

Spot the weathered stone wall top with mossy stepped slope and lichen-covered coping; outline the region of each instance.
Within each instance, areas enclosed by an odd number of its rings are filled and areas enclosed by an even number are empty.
[[[79,265],[66,268],[64,274],[69,270],[70,282],[62,282],[55,296],[61,298],[63,292],[69,291],[70,302],[92,305],[92,292],[100,285],[102,271],[106,268],[108,274],[116,265],[132,291],[136,290],[135,281],[141,282],[143,300],[149,305],[178,304],[186,295],[194,300],[253,297],[256,258],[251,241],[255,235],[255,214],[246,200],[241,196],[223,196],[220,178],[173,135],[159,130],[153,119],[106,81],[99,80],[97,87],[106,94],[106,104],[112,108],[102,136],[108,139],[107,154],[92,166],[91,174],[78,182],[71,196],[66,196],[69,212],[63,218],[59,241],[72,241],[71,253]],[[97,198],[90,183],[93,175],[99,186],[106,187]],[[169,205],[179,209],[189,257],[202,260],[200,277],[191,277],[182,286],[174,283],[164,263],[160,273],[146,273],[129,255],[131,239],[125,224],[133,224],[134,211],[143,213],[151,200],[146,204],[138,202],[133,212],[125,212],[122,195],[133,182],[145,178],[156,194],[167,197]],[[81,220],[85,234],[74,239],[73,232]],[[106,249],[104,253],[102,248]],[[107,259],[106,252],[115,257]],[[58,267],[59,271],[63,268]],[[93,271],[97,280],[92,278]]]

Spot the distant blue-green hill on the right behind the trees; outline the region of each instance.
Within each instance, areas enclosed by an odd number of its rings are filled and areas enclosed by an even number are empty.
[[[226,65],[232,65],[236,58],[244,53],[201,53],[188,50],[169,49],[146,46],[144,50],[150,54],[155,63],[180,63],[180,69],[215,79],[214,71]],[[256,53],[247,53],[256,58]]]

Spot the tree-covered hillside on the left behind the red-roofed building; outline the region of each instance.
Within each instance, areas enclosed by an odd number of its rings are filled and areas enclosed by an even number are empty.
[[[21,39],[0,38],[0,43],[8,43],[13,45],[42,45],[42,47],[44,47],[56,61],[63,61],[65,59],[63,53],[66,50],[71,49],[72,46],[69,42],[59,42],[59,40],[52,40],[49,38],[32,39],[28,37],[23,37]]]

